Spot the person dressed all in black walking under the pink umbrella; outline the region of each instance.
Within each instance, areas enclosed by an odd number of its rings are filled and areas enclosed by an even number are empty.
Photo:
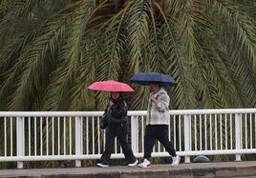
[[[122,148],[128,167],[134,167],[138,164],[138,160],[127,139],[127,111],[128,107],[121,92],[111,91],[109,104],[100,121],[101,133],[104,133],[106,129],[105,150],[101,155],[100,162],[96,164],[100,168],[107,168],[110,166],[109,161],[116,137]]]

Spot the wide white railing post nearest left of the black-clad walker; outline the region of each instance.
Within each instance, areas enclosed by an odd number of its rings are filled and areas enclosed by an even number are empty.
[[[75,117],[75,155],[82,155],[82,117]],[[81,167],[81,160],[75,160],[75,167]]]

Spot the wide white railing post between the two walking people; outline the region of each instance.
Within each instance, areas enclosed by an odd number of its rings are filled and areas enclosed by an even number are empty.
[[[135,153],[139,152],[139,129],[138,129],[138,117],[131,116],[131,147]]]

